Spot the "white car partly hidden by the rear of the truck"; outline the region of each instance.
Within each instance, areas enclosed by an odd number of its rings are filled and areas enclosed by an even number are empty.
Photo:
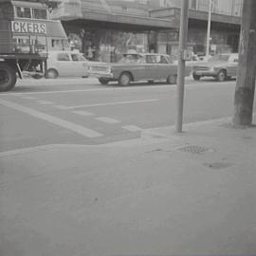
[[[78,51],[49,51],[46,78],[88,77],[88,64]]]

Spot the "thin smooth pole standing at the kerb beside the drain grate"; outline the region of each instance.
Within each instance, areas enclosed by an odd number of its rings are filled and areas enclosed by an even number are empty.
[[[189,20],[189,0],[182,0],[179,26],[179,44],[178,44],[178,72],[177,72],[177,116],[175,128],[177,133],[182,132],[183,121],[183,101],[184,101],[184,83],[185,83],[185,58],[184,51],[188,35]]]

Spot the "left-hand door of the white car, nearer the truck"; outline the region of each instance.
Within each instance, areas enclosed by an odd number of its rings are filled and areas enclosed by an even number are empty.
[[[60,77],[70,77],[73,75],[74,68],[72,67],[69,53],[59,52],[57,54],[55,66]]]

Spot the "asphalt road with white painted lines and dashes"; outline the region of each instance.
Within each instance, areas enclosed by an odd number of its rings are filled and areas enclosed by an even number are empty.
[[[235,81],[186,82],[184,122],[232,116]],[[25,80],[0,94],[0,151],[46,144],[101,144],[174,125],[176,86],[120,87],[93,79]]]

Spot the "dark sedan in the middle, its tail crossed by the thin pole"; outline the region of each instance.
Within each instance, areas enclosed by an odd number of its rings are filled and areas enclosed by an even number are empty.
[[[191,74],[191,68],[186,68],[186,75]],[[177,64],[169,55],[158,53],[126,53],[116,64],[91,63],[89,76],[97,77],[101,84],[119,82],[129,85],[137,81],[166,81],[176,83]]]

